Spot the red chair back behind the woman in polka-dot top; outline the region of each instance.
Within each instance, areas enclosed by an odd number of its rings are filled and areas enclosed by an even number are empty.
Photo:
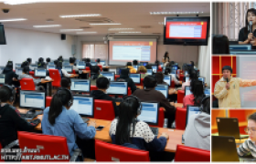
[[[95,139],[96,161],[150,161],[149,152]]]

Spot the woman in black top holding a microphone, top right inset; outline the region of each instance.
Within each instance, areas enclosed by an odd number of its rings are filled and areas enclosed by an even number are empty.
[[[252,26],[249,25],[249,22],[252,22]],[[251,44],[254,45],[254,38],[256,36],[256,9],[251,8],[247,10],[245,17],[245,27],[240,29],[239,35],[239,44]],[[252,28],[252,29],[251,29]],[[252,32],[252,33],[251,33]]]

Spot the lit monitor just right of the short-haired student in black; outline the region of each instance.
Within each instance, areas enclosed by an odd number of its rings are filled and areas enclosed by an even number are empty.
[[[127,95],[128,84],[127,82],[111,81],[110,87],[107,89],[109,95]]]

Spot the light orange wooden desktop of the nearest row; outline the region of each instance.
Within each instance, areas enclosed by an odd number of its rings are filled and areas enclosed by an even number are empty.
[[[20,111],[20,113],[26,113],[27,112],[27,109],[18,109],[18,110]],[[42,120],[43,115],[38,115],[37,118]],[[112,138],[109,135],[109,129],[111,127],[112,121],[90,118],[89,126],[90,126],[91,121],[95,121],[96,126],[105,127],[105,128],[102,128],[101,131],[96,132],[95,139],[99,139],[99,140],[111,143]],[[38,124],[35,129],[36,130],[42,130],[41,123]],[[172,129],[172,128],[159,128],[158,137],[163,132],[165,132],[169,135],[169,139],[167,140],[165,151],[176,152],[176,145],[177,144],[182,144],[181,143],[181,140],[182,140],[181,138],[182,138],[182,134],[184,133],[184,130],[176,130],[176,129]]]

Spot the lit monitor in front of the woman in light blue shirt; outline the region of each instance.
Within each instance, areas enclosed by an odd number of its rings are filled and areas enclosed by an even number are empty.
[[[74,95],[72,109],[77,111],[81,117],[94,117],[94,99],[93,97]]]

